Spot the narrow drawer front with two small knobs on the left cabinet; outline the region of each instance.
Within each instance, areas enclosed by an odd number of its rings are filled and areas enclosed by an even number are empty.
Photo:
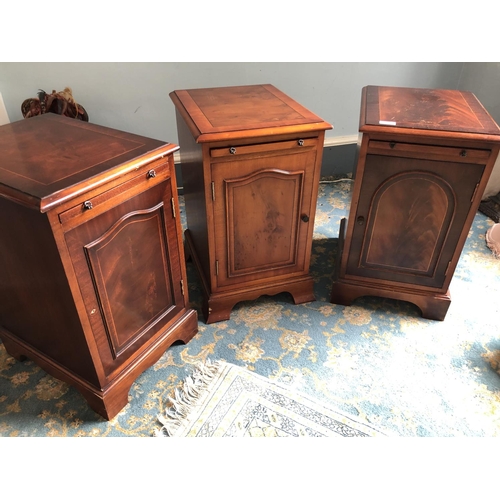
[[[159,182],[162,182],[170,176],[170,168],[168,160],[162,159],[158,162],[153,162],[148,165],[146,170],[128,181],[108,189],[96,195],[90,195],[77,205],[65,210],[59,214],[59,221],[65,224],[75,217],[80,217],[82,222],[96,214],[101,213],[103,210],[120,204],[124,200],[134,196],[136,193],[149,189]]]

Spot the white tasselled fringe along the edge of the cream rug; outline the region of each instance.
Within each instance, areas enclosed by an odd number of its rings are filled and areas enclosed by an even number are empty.
[[[170,406],[165,409],[163,415],[158,415],[158,420],[163,427],[155,430],[156,437],[175,435],[183,419],[201,402],[200,398],[207,393],[208,386],[222,365],[222,361],[212,362],[210,359],[195,365],[193,373],[186,377],[182,387],[176,388],[174,396],[167,398]]]

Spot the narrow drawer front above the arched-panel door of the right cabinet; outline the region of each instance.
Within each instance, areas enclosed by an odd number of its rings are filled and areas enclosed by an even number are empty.
[[[463,163],[484,164],[488,161],[490,153],[491,151],[488,149],[409,144],[397,141],[372,140],[368,143],[368,154],[424,158],[428,160],[451,160]]]

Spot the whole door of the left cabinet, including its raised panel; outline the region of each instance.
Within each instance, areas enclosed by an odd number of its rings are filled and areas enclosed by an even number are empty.
[[[109,374],[184,307],[170,179],[65,235]]]

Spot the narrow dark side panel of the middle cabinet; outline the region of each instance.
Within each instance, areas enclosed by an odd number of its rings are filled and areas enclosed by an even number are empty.
[[[186,221],[198,258],[209,276],[208,224],[202,146],[176,110]]]

